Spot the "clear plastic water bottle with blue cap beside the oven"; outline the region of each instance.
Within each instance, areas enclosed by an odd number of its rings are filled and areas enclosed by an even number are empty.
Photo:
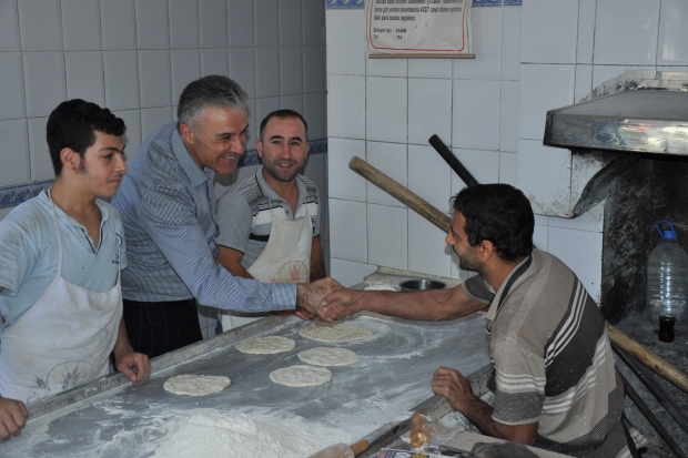
[[[667,224],[670,230],[662,231]],[[674,340],[674,323],[688,318],[688,254],[678,244],[671,222],[655,223],[661,242],[647,259],[647,309],[651,323],[659,323],[659,339]]]

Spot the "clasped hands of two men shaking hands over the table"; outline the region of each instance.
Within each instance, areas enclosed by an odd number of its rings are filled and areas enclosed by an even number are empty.
[[[303,319],[317,319],[332,323],[352,316],[355,301],[353,292],[346,289],[334,278],[322,278],[313,283],[302,283],[296,288],[296,313]]]

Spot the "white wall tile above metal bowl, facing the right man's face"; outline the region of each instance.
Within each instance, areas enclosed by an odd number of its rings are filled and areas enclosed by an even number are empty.
[[[408,212],[408,269],[431,275],[452,276],[451,248],[446,234],[418,215]]]

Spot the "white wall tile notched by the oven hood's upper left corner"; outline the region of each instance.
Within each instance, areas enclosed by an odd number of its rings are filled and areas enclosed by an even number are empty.
[[[574,103],[575,82],[575,65],[522,65],[518,138],[543,140],[547,111]]]

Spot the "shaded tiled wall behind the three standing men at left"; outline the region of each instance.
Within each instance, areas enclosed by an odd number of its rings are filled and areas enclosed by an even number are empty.
[[[249,150],[260,116],[281,106],[304,113],[310,140],[323,141],[324,26],[322,0],[0,1],[0,192],[53,179],[44,131],[60,102],[85,99],[124,119],[131,160],[145,136],[175,119],[184,85],[208,74],[227,74],[250,94]],[[255,166],[217,187],[245,172]],[[312,157],[307,174],[322,187],[326,214],[325,154]],[[362,191],[365,200],[365,182]]]

